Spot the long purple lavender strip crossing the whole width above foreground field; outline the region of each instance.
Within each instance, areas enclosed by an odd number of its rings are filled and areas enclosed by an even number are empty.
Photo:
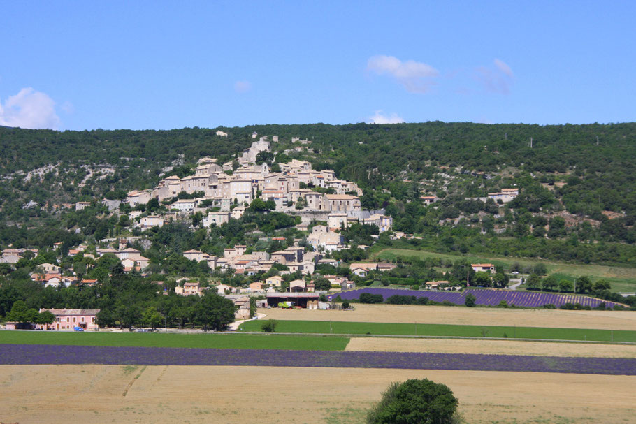
[[[225,365],[636,375],[636,359],[1,344],[0,365]]]

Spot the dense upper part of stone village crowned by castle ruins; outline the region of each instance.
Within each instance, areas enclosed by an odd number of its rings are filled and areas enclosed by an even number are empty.
[[[391,228],[391,217],[361,210],[362,190],[356,183],[339,180],[333,170],[312,170],[308,161],[292,159],[274,166],[266,162],[255,165],[263,152],[271,154],[270,142],[261,137],[236,161],[219,165],[216,159],[202,158],[194,175],[166,177],[154,189],[129,192],[126,201],[136,207],[151,199],[166,203],[186,193],[189,198],[168,203],[169,209],[179,213],[206,212],[205,226],[224,224],[231,217],[240,218],[252,200],[260,199],[275,205],[268,209],[296,214],[307,223],[312,219],[327,221],[331,229],[347,226],[348,221],[373,224],[381,231]],[[145,217],[141,225],[154,226],[160,222],[158,217]],[[326,249],[342,248],[333,240],[327,242],[329,237],[323,238],[325,242],[319,244]]]

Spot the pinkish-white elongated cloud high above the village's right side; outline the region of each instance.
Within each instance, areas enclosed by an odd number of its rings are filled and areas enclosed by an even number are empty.
[[[401,61],[394,56],[373,56],[367,62],[367,70],[377,75],[389,75],[412,93],[426,93],[439,75],[433,66],[413,60]]]

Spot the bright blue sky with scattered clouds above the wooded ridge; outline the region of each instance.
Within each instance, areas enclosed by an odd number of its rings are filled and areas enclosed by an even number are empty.
[[[633,122],[633,1],[0,0],[0,125]]]

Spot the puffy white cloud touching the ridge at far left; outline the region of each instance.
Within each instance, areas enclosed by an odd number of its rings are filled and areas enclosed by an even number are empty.
[[[31,87],[0,102],[0,125],[30,129],[57,129],[60,121],[55,113],[55,101]]]

